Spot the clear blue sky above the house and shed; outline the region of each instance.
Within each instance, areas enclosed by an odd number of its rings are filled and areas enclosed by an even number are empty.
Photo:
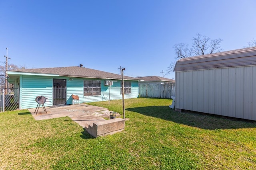
[[[0,0],[0,65],[8,47],[8,62],[27,68],[162,76],[173,45],[191,45],[197,33],[223,39],[224,51],[247,46],[255,9],[255,0]]]

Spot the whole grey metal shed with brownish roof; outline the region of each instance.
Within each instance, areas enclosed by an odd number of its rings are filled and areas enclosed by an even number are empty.
[[[256,47],[177,61],[176,110],[256,120]]]

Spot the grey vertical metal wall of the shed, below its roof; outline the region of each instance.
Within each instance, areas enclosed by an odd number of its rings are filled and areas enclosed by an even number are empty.
[[[256,66],[176,72],[176,108],[256,120],[255,87]]]

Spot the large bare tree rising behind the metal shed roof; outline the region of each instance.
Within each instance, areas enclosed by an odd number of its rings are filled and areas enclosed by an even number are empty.
[[[205,54],[212,54],[212,53],[218,53],[220,51],[223,51],[223,49],[220,46],[220,43],[223,41],[222,39],[210,39],[209,37],[206,37],[205,35],[196,34],[196,37],[192,38],[192,48],[188,47],[188,44],[179,43],[175,44],[173,46],[175,51],[175,61],[171,62],[170,65],[167,68],[166,74],[169,74],[172,72],[172,70],[175,67],[176,61],[178,59],[197,56],[197,55],[205,55]]]

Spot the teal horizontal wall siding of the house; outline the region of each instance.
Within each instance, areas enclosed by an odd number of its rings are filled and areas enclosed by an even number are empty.
[[[52,99],[52,86],[53,78],[48,76],[20,76],[20,107],[21,109],[35,108],[37,103],[35,102],[36,96],[44,96],[47,99],[45,106],[53,106]],[[84,80],[92,80],[86,78],[73,78],[69,80],[69,77],[58,77],[60,79],[66,79],[66,101],[67,104],[72,104],[71,95],[78,95],[80,103],[84,102],[99,102],[108,101],[109,90],[110,100],[122,99],[120,94],[120,80],[113,82],[113,86],[105,86],[104,80],[101,80],[101,95],[98,96],[84,96]],[[138,97],[138,82],[131,81],[132,94],[125,94],[124,98],[137,98]]]

